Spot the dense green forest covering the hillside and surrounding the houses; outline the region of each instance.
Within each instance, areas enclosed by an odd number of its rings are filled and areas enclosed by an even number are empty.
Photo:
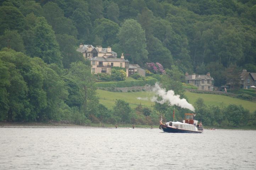
[[[255,0],[0,0],[0,121],[155,124],[157,108],[131,110],[118,100],[109,110],[99,103],[79,44],[111,46],[141,66],[161,63],[163,86],[185,97],[178,88],[185,72],[210,72],[215,86],[242,69],[256,72],[255,18]],[[227,117],[231,126],[245,120]],[[246,121],[255,118],[256,112]]]

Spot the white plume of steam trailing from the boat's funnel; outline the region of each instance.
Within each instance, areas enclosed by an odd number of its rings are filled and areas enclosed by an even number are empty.
[[[154,97],[151,98],[152,102],[157,102],[157,103],[160,103],[160,104],[163,104],[165,102],[169,102],[170,105],[174,105],[175,104],[175,105],[177,105],[179,107],[190,109],[193,112],[195,111],[195,108],[193,107],[192,104],[189,104],[185,98],[180,99],[179,95],[174,95],[174,91],[173,90],[168,90],[166,92],[165,89],[162,89],[156,83],[155,84],[155,88],[153,89],[153,91],[155,91],[156,94],[162,98],[162,100],[158,101],[157,97],[154,96]]]

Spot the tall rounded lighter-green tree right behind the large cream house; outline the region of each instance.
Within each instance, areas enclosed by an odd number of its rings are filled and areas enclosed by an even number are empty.
[[[118,39],[121,49],[131,63],[142,64],[148,58],[145,31],[134,19],[124,21],[119,29]]]

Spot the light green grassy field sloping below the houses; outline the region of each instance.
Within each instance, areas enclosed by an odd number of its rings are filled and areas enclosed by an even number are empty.
[[[98,97],[100,98],[100,103],[104,104],[108,108],[113,108],[115,105],[116,99],[123,99],[126,102],[130,103],[130,106],[132,108],[135,108],[138,106],[138,104],[141,104],[146,107],[151,107],[154,105],[154,102],[150,101],[150,98],[154,96],[153,92],[146,92],[146,91],[140,91],[140,92],[110,92],[110,91],[104,91],[104,90],[97,90]],[[197,94],[197,93],[191,93],[191,92],[185,92],[185,95],[188,97],[188,100],[190,103],[194,104],[197,98],[201,97],[205,104],[241,104],[244,108],[248,109],[250,112],[254,112],[256,110],[256,102],[250,102],[246,100],[241,100],[234,97],[229,96],[223,96],[223,95],[213,95],[213,94]],[[145,100],[139,100],[138,97],[141,97]],[[146,100],[148,99],[148,100]]]

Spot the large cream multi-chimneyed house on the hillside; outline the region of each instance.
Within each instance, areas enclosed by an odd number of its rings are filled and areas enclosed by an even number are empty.
[[[121,58],[117,58],[117,53],[112,51],[110,46],[102,48],[102,46],[94,47],[81,43],[77,51],[83,53],[84,59],[91,61],[91,73],[111,74],[112,67],[122,67],[126,69],[126,76],[128,77],[139,70],[124,59],[123,53]]]

